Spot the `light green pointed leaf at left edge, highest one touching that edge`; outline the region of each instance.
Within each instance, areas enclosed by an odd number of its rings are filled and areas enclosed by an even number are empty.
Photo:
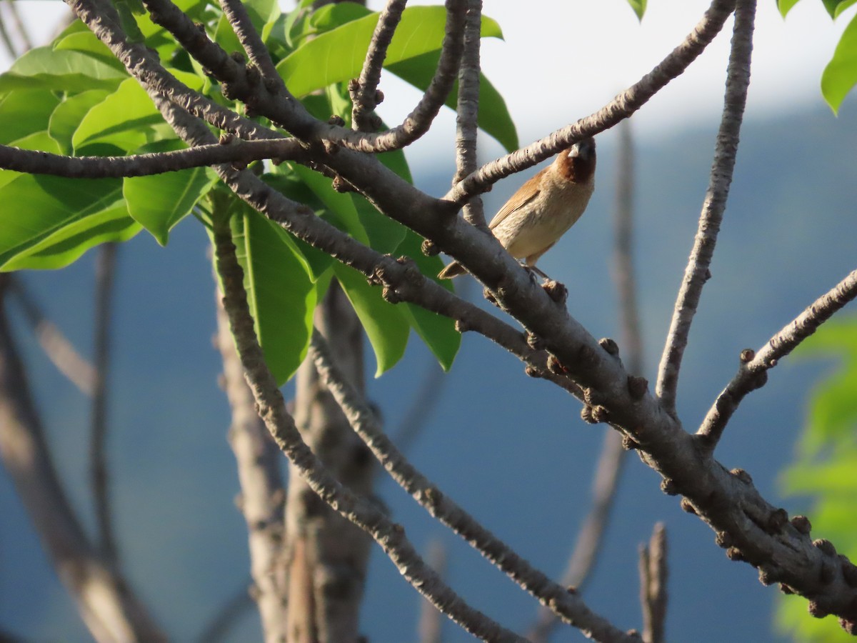
[[[20,89],[51,89],[83,92],[87,89],[116,87],[128,74],[81,53],[37,47],[18,58],[9,71],[0,75],[0,93]]]

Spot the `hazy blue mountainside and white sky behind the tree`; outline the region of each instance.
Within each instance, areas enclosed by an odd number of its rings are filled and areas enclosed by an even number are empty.
[[[506,98],[526,145],[596,111],[637,81],[680,43],[707,4],[654,1],[640,24],[623,0],[486,3],[486,15],[500,22],[505,40],[485,42],[484,71]],[[20,6],[29,24],[45,30],[41,41],[63,10],[38,1]],[[679,412],[687,430],[696,429],[734,375],[742,349],[762,346],[854,269],[857,109],[849,99],[835,117],[818,92],[850,15],[833,23],[811,0],[786,20],[770,1],[758,13],[734,183],[713,279],[681,373]],[[730,29],[728,21],[689,72],[632,118],[642,375],[650,382],[708,183]],[[379,111],[387,123],[404,117],[417,100],[389,75],[381,88],[387,101]],[[417,185],[430,194],[442,195],[450,184],[453,135],[454,118],[446,112],[408,151]],[[481,145],[483,161],[502,153],[485,136]],[[539,265],[566,284],[568,308],[591,334],[618,338],[611,280],[615,132],[600,135],[598,146],[590,207]],[[523,179],[497,184],[485,196],[486,213]],[[90,253],[60,272],[23,275],[85,354],[92,344],[93,266]],[[469,292],[481,299],[477,288]],[[109,448],[120,556],[174,640],[195,640],[249,582],[246,529],[234,504],[237,474],[225,440],[229,412],[211,342],[213,282],[201,226],[183,221],[165,249],[145,233],[124,244],[115,305]],[[17,330],[57,466],[75,507],[93,526],[87,400],[53,370],[23,323]],[[402,363],[369,382],[391,433],[436,368],[412,340]],[[792,456],[807,392],[829,368],[783,360],[768,385],[742,404],[717,450],[724,466],[746,469],[764,496],[789,514],[806,510],[806,500],[783,498],[777,475]],[[374,370],[369,364],[368,373]],[[605,428],[584,424],[577,401],[524,376],[517,359],[475,334],[464,336],[442,386],[437,405],[423,409],[428,421],[409,450],[414,464],[536,567],[559,576],[589,508]],[[662,520],[669,538],[668,639],[780,640],[771,628],[776,590],[761,586],[751,567],[729,562],[709,527],[681,512],[678,499],[663,496],[659,482],[635,455],[628,458],[602,557],[584,594],[590,607],[621,628],[640,627],[637,548]],[[537,605],[529,596],[430,520],[397,485],[385,480],[378,492],[419,548],[433,541],[446,547],[447,579],[464,598],[509,628],[530,625]],[[0,515],[0,626],[27,640],[89,640],[2,470]],[[376,548],[363,633],[375,643],[416,640],[420,601]],[[249,610],[229,640],[259,639],[258,617]],[[560,628],[553,640],[582,639]],[[443,640],[470,638],[450,623]]]

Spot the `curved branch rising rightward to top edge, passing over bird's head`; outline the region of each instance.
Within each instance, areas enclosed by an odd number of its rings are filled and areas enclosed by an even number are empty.
[[[554,156],[562,149],[604,129],[609,129],[622,119],[631,116],[648,100],[667,85],[669,81],[681,75],[685,69],[701,54],[711,40],[720,32],[723,23],[734,9],[734,0],[713,0],[698,25],[678,47],[661,63],[644,75],[636,84],[618,94],[602,109],[588,117],[581,118],[563,129],[536,141],[516,152],[495,159],[465,177],[450,190],[444,199],[458,206],[470,200],[470,197],[488,191],[490,186],[501,178],[515,172],[526,170],[544,159]]]

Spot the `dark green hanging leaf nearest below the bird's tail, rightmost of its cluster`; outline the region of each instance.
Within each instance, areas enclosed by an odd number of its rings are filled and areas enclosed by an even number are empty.
[[[430,279],[434,279],[446,290],[452,291],[452,284],[449,279],[437,279],[435,276],[443,267],[443,261],[440,261],[438,256],[423,255],[422,244],[423,238],[416,232],[409,230],[405,240],[399,244],[396,254],[411,257],[416,261],[420,272]],[[413,303],[400,305],[403,306],[402,311],[405,318],[410,322],[411,327],[417,331],[426,346],[434,353],[434,357],[437,358],[443,370],[449,370],[458,353],[458,348],[461,346],[461,334],[455,329],[455,322],[449,317],[438,315]]]

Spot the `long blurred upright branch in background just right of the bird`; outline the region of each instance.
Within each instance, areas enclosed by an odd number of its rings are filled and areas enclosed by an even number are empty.
[[[619,125],[619,162],[616,172],[616,201],[614,207],[614,261],[613,273],[619,295],[619,317],[622,357],[631,373],[643,369],[643,342],[640,333],[637,306],[637,284],[633,269],[633,194],[634,159],[631,122]],[[626,450],[619,431],[604,434],[601,455],[596,465],[592,485],[592,507],[578,532],[566,572],[560,583],[583,592],[595,568],[604,542],[604,532],[614,506],[616,490],[625,462]],[[532,643],[548,640],[556,626],[556,617],[550,610],[539,610],[528,638]]]

